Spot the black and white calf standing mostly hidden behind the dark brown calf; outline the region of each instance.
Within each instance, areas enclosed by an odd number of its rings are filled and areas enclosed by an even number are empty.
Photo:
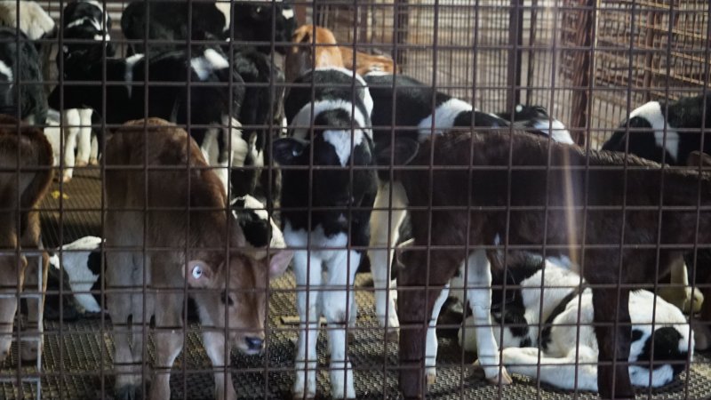
[[[420,142],[432,134],[441,134],[451,128],[466,129],[475,126],[500,129],[509,126],[507,119],[476,110],[466,101],[436,92],[431,86],[409,76],[371,73],[363,78],[375,103],[372,124],[376,153],[377,149],[390,146],[393,126],[397,127],[395,137]],[[552,131],[548,129],[549,117],[545,110],[541,112],[540,108],[531,107],[520,110],[516,108],[516,111],[515,124],[525,124],[525,129],[539,135],[553,132],[553,140],[572,142],[567,130],[559,130],[562,124],[554,124],[555,129]],[[368,255],[371,260],[375,309],[379,324],[397,328],[399,322],[395,311],[396,293],[390,287],[389,273],[393,253],[381,249],[392,249],[397,244],[398,227],[405,217],[407,196],[399,182],[390,182],[387,171],[381,171],[379,178],[381,181],[378,196],[371,214],[370,244],[371,249],[378,250],[371,250]]]

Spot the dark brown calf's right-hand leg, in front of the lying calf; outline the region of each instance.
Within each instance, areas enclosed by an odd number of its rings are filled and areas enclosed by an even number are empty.
[[[588,266],[589,268],[589,266]],[[631,326],[629,318],[629,289],[593,289],[595,309],[595,337],[598,356],[597,386],[603,398],[635,398],[629,380],[629,341]],[[615,316],[618,326],[615,327]]]

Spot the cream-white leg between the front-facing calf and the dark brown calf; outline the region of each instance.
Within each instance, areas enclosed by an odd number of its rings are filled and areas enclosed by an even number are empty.
[[[392,188],[392,207],[390,188]],[[398,228],[405,217],[403,208],[406,205],[407,195],[403,185],[400,182],[392,184],[385,182],[378,188],[371,213],[371,250],[368,252],[368,257],[371,260],[375,290],[375,314],[380,326],[395,329],[400,326],[400,323],[395,311],[395,291],[390,287],[390,265],[399,236]],[[390,208],[394,210],[389,210]]]

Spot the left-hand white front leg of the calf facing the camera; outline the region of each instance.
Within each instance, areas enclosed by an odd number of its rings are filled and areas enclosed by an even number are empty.
[[[322,284],[321,259],[312,251],[294,252],[294,276],[298,292],[296,309],[299,312],[300,329],[296,346],[296,378],[292,388],[294,399],[316,396],[316,338],[318,336],[318,290]],[[314,290],[316,288],[316,290]]]

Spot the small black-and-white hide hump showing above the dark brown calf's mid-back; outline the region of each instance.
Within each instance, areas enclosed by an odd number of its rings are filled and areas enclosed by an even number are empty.
[[[514,108],[513,118],[511,113],[497,113],[497,116],[507,120],[515,128],[523,131],[550,136],[560,143],[575,144],[571,132],[565,125],[548,115],[546,108],[541,106],[525,106],[518,104]]]

